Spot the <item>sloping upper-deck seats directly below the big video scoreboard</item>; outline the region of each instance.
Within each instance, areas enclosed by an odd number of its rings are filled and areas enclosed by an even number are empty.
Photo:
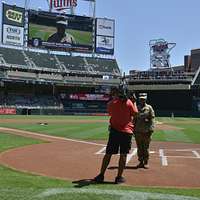
[[[89,75],[90,77],[94,75],[94,77],[98,78],[108,75],[112,76],[112,78],[114,77],[114,79],[120,77],[120,70],[115,59],[72,57],[0,47],[0,60],[2,69],[17,69],[18,75],[21,77],[24,75],[25,77],[44,78],[45,75],[37,76],[39,72],[54,72],[64,75],[82,74]],[[92,62],[92,64],[88,63],[87,60]],[[24,70],[31,73],[26,73]],[[33,72],[35,72],[35,75]],[[8,76],[12,76],[13,74],[14,72],[9,72]],[[17,77],[17,74],[15,76]],[[59,78],[59,80],[61,81],[62,78]]]

